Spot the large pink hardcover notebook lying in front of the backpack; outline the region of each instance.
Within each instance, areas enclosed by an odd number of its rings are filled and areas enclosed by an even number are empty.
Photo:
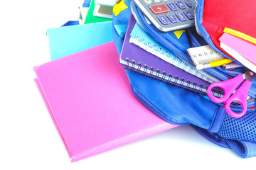
[[[176,127],[135,98],[118,62],[108,42],[34,68],[72,162]]]

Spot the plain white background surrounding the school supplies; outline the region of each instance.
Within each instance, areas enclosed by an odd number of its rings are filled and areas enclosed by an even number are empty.
[[[50,61],[46,29],[76,20],[81,4],[1,2],[0,169],[255,169],[256,157],[241,159],[188,126],[70,163],[33,82],[33,67]]]

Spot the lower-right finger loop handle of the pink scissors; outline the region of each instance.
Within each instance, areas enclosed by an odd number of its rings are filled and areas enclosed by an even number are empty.
[[[252,85],[251,81],[245,81],[240,88],[235,91],[235,94],[230,96],[227,101],[225,101],[225,111],[228,113],[228,115],[232,116],[233,118],[240,118],[242,115],[245,115],[247,111],[247,94],[250,89],[250,86]],[[240,105],[242,106],[242,112],[235,113],[231,110],[230,104],[233,101],[238,101]]]

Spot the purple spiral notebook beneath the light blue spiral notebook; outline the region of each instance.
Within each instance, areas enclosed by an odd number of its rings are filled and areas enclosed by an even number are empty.
[[[119,63],[124,65],[124,68],[134,70],[146,74],[154,79],[166,81],[170,84],[182,86],[185,89],[190,89],[201,94],[206,94],[206,89],[210,85],[208,81],[204,81],[183,69],[161,60],[159,57],[152,55],[146,50],[129,43],[130,34],[136,24],[134,16],[130,16],[127,26],[127,34],[124,38],[124,45],[119,57]]]

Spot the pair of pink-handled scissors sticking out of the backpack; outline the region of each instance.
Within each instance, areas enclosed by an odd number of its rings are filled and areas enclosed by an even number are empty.
[[[251,81],[254,77],[255,77],[254,72],[245,72],[245,74],[239,74],[237,77],[233,79],[214,82],[213,84],[210,84],[210,86],[207,89],[208,97],[216,103],[225,102],[225,111],[228,113],[228,115],[232,116],[233,118],[240,118],[242,117],[242,115],[246,113],[247,94],[250,89],[250,86],[252,85]],[[242,85],[238,88],[237,91],[235,91],[235,89],[237,89],[237,87],[240,84]],[[215,97],[212,93],[212,89],[214,87],[219,87],[220,89],[223,89],[224,96],[221,98]],[[233,94],[234,91],[235,93]],[[240,105],[242,106],[241,113],[235,113],[231,110],[230,104],[233,101],[237,101],[238,103],[240,103]]]

